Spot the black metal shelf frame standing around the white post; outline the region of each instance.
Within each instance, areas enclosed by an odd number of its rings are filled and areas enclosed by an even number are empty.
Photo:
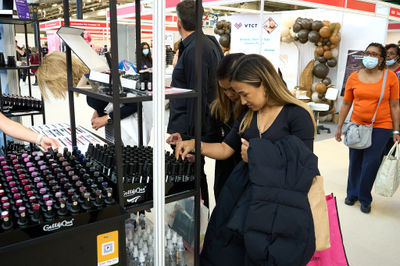
[[[69,27],[69,1],[64,0],[64,22],[65,26]],[[91,96],[96,99],[100,99],[103,101],[111,102],[113,106],[120,106],[121,103],[138,103],[138,136],[139,136],[139,145],[143,145],[143,125],[142,125],[142,102],[151,101],[152,96],[141,96],[141,97],[120,97],[120,77],[118,71],[118,30],[117,30],[117,1],[110,0],[109,12],[110,12],[110,32],[111,32],[111,84],[112,84],[112,96],[102,94],[96,92],[95,90],[87,90],[87,89],[79,89],[72,86],[72,64],[71,64],[71,49],[67,47],[67,72],[68,72],[68,87],[69,87],[69,107],[70,107],[70,119],[71,119],[71,132],[72,132],[72,144],[76,145],[76,124],[75,124],[75,111],[74,111],[74,99],[73,93],[81,93],[88,96]],[[137,66],[138,71],[140,70],[140,0],[135,0],[136,4],[136,56],[137,56]],[[201,31],[201,21],[202,18],[200,16],[200,10],[202,1],[196,0],[196,18],[197,18],[197,33],[196,33],[196,47],[200,49],[196,50],[196,72],[197,76],[201,76],[201,45],[200,41],[200,31]],[[196,87],[201,88],[201,79],[197,80]],[[153,91],[155,91],[153,89]],[[200,137],[201,137],[201,93],[198,93],[201,89],[197,89],[196,91],[167,95],[166,99],[177,99],[177,98],[195,98],[196,101],[196,121],[195,121],[195,139],[196,139],[196,158],[200,158]],[[124,207],[124,186],[123,186],[123,176],[122,176],[122,141],[121,141],[121,116],[120,109],[115,108],[113,112],[113,127],[114,127],[114,139],[115,139],[115,154],[116,154],[116,172],[117,172],[117,192],[118,192],[118,200],[119,204],[122,208],[124,208],[127,212],[139,212],[144,211],[149,208],[152,208],[153,201],[146,201],[137,205]],[[183,191],[177,194],[168,195],[165,198],[165,202],[173,202],[184,198],[195,197],[195,236],[194,236],[194,262],[195,265],[199,265],[199,253],[200,253],[200,160],[196,161],[196,181],[194,189]],[[164,226],[164,225],[163,225]],[[124,256],[125,245],[120,243],[120,246],[124,246],[121,251],[121,257]],[[121,262],[126,258],[121,258]],[[121,264],[125,265],[125,264]]]

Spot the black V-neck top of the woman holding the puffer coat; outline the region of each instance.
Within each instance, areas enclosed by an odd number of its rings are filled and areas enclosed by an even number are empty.
[[[235,151],[240,151],[241,141],[244,138],[249,141],[252,138],[260,138],[257,127],[257,113],[254,113],[250,127],[239,135],[240,122],[244,113],[236,120],[231,132],[224,139]],[[272,125],[261,135],[263,139],[277,141],[287,135],[295,135],[312,151],[314,142],[314,126],[309,113],[302,107],[288,104],[285,105]]]

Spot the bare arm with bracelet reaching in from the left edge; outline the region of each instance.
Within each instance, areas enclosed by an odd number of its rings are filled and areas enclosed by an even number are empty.
[[[8,136],[23,141],[28,141],[31,143],[35,143],[39,136],[39,133],[33,132],[32,130],[24,127],[23,125],[11,119],[8,119],[1,113],[0,113],[0,130],[3,131]],[[40,146],[48,150],[51,147],[59,147],[60,144],[52,138],[43,136],[40,141]]]

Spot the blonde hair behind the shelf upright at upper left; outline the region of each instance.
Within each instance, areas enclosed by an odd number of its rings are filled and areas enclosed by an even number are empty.
[[[76,56],[72,56],[72,85],[76,86],[89,69]],[[44,99],[48,99],[48,91],[56,99],[66,98],[68,92],[67,60],[63,52],[52,52],[44,57],[36,71],[37,82]]]

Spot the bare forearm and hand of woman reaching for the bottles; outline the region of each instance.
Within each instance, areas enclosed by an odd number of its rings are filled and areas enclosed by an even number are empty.
[[[175,157],[176,159],[179,156],[184,159],[189,152],[193,151],[195,146],[194,139],[180,141],[176,144],[175,148]],[[207,143],[201,142],[201,155],[210,157],[216,160],[226,160],[231,157],[235,153],[235,150],[232,149],[228,144],[225,142],[222,143]]]

